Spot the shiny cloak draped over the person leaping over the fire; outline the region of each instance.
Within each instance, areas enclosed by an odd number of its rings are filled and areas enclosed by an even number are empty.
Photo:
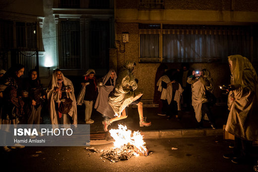
[[[121,115],[130,103],[142,96],[142,93],[136,90],[138,86],[132,74],[134,65],[134,61],[126,62],[119,72],[114,90],[109,94],[108,103],[117,115]]]

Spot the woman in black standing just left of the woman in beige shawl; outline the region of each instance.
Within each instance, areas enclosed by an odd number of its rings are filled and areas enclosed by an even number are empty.
[[[45,99],[44,90],[36,69],[30,70],[29,77],[26,83],[26,90],[29,92],[28,124],[40,124],[40,114],[43,106],[42,99]]]

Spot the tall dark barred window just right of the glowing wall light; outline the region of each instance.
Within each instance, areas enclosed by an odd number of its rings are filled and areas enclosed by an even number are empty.
[[[60,35],[61,68],[81,68],[80,25],[78,21],[62,21]]]

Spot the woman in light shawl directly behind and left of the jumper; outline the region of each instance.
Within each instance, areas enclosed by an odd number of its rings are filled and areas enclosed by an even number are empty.
[[[103,86],[97,86],[99,94],[94,108],[97,109],[97,111],[102,115],[110,118],[114,117],[115,113],[108,104],[108,95],[114,89],[116,79],[116,71],[114,69],[110,69],[109,72],[102,78]]]

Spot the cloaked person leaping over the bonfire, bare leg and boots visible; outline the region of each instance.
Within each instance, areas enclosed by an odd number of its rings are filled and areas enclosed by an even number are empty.
[[[108,131],[108,125],[112,122],[127,118],[126,108],[129,105],[138,106],[140,126],[151,125],[151,122],[147,122],[146,117],[143,117],[142,102],[140,102],[143,93],[136,90],[138,87],[137,79],[133,75],[135,65],[136,63],[134,61],[127,61],[119,72],[115,88],[110,92],[108,98],[108,103],[116,117],[107,118],[102,121],[105,131]]]

